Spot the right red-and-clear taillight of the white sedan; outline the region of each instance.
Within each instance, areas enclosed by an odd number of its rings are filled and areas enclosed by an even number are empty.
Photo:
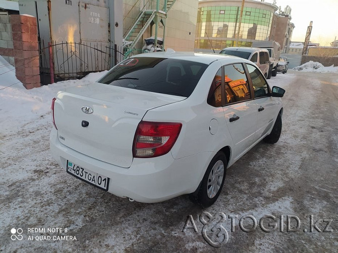
[[[181,128],[182,123],[141,121],[135,133],[133,156],[148,158],[168,153]]]

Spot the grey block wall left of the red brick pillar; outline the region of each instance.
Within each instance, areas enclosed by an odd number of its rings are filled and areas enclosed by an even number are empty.
[[[10,64],[14,64],[14,50],[12,38],[12,26],[9,15],[0,15],[0,55]]]

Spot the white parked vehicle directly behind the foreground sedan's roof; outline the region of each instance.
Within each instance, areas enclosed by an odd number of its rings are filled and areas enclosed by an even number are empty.
[[[219,53],[251,60],[261,70],[266,79],[271,78],[271,75],[269,75],[269,52],[267,49],[255,47],[227,47],[222,49]]]

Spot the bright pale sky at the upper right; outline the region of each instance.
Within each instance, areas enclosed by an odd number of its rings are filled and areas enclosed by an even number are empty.
[[[273,0],[265,0],[272,3]],[[289,5],[291,22],[295,24],[292,41],[304,41],[307,27],[313,21],[310,41],[329,46],[336,36],[338,40],[338,0],[276,0],[281,10]]]

